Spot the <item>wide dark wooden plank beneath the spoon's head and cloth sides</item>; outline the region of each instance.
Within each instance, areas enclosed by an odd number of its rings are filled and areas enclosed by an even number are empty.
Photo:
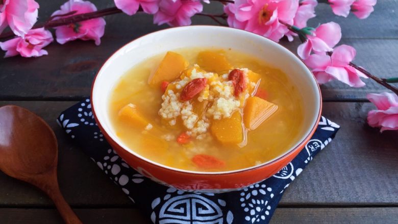
[[[72,206],[134,207],[122,191],[98,169],[56,124],[73,102],[0,102],[16,104],[42,116],[59,142],[59,182]],[[323,114],[341,130],[326,150],[287,188],[280,206],[398,206],[397,132],[364,124],[370,103],[325,103]],[[0,207],[53,207],[40,191],[0,172]],[[93,190],[95,189],[95,190]]]

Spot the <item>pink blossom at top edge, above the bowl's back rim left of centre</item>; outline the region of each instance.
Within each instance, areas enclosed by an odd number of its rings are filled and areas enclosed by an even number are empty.
[[[167,23],[170,26],[188,26],[191,17],[203,10],[199,0],[160,0],[159,11],[154,15],[154,23]]]

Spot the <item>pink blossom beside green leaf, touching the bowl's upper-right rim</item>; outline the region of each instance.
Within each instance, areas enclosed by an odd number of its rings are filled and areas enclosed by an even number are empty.
[[[330,52],[341,39],[341,28],[336,22],[321,24],[312,35],[307,35],[308,40],[297,47],[297,54],[307,59],[311,51],[314,53]]]

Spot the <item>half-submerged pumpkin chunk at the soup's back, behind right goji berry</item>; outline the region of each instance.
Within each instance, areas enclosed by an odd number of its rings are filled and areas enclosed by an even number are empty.
[[[228,71],[232,68],[225,56],[212,51],[200,52],[197,55],[197,64],[202,69],[211,72]]]

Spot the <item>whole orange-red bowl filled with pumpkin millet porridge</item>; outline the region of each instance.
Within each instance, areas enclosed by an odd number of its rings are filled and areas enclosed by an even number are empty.
[[[91,92],[98,127],[142,175],[237,190],[286,166],[314,133],[319,86],[282,45],[242,30],[170,28],[114,53]]]

